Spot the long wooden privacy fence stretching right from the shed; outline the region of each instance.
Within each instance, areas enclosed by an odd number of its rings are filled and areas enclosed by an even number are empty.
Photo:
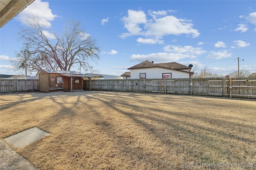
[[[87,90],[256,98],[256,80],[248,78],[177,78],[84,80]]]

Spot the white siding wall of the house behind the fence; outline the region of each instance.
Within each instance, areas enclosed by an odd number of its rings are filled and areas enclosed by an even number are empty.
[[[146,73],[146,78],[162,78],[163,73],[172,73],[172,78],[189,78],[189,73],[166,68],[140,68],[131,70],[131,78],[139,79],[140,73]]]

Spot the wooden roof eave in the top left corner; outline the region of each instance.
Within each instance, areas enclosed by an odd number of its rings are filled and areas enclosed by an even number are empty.
[[[0,1],[0,27],[14,18],[34,0],[1,0]]]

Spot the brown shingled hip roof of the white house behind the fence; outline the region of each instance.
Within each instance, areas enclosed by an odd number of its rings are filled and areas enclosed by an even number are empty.
[[[148,60],[137,64],[135,66],[132,66],[130,68],[128,68],[128,70],[131,69],[136,69],[136,68],[151,68],[151,67],[162,67],[162,68],[168,68],[168,69],[176,69],[176,70],[180,70],[180,69],[190,69],[189,66],[185,66],[176,62],[172,62],[172,63],[158,63],[158,64],[154,64]]]

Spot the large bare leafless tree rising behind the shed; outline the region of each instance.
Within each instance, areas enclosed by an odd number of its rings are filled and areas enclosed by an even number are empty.
[[[39,18],[31,17],[27,21],[28,26],[21,28],[19,32],[26,47],[22,54],[17,54],[16,61],[13,62],[16,69],[24,68],[22,55],[26,51],[27,68],[30,72],[44,68],[70,70],[74,64],[93,71],[90,61],[99,59],[100,50],[96,41],[80,28],[80,22],[67,23],[60,37]]]

